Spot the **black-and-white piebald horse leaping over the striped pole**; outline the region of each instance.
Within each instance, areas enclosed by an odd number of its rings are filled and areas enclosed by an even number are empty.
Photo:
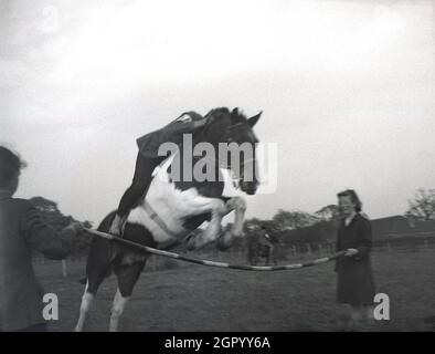
[[[123,238],[158,249],[170,249],[183,241],[187,242],[189,249],[199,249],[213,241],[216,241],[216,247],[220,249],[231,247],[234,238],[243,236],[246,202],[242,197],[229,198],[223,196],[224,178],[221,168],[234,173],[242,191],[248,195],[256,192],[258,179],[255,144],[258,140],[253,132],[253,126],[257,123],[261,114],[246,118],[237,108],[232,112],[225,107],[212,110],[208,114],[211,119],[200,132],[194,134],[193,143],[209,143],[209,146],[212,146],[212,150],[215,152],[213,157],[210,157],[209,152],[203,157],[192,156],[197,154],[181,148],[178,153],[180,156],[178,162],[181,162],[179,174],[181,178],[177,180],[172,179],[174,156],[171,155],[165,160],[157,173],[155,171],[145,198],[129,212]],[[231,163],[223,164],[219,160],[217,154],[219,146],[222,143],[235,143],[237,146],[246,143],[252,147],[254,155],[250,159],[238,159],[238,166],[233,165],[233,159],[231,159]],[[183,164],[185,157],[193,157],[193,164]],[[195,163],[200,163],[201,158],[209,163],[209,168],[211,165],[213,166],[214,178],[203,180],[185,178],[185,176],[192,176],[194,168],[198,168]],[[213,164],[210,164],[211,162]],[[246,174],[246,170],[253,173]],[[184,171],[188,171],[188,174],[184,174]],[[206,176],[213,175],[209,173]],[[222,218],[233,210],[234,221],[223,232]],[[102,221],[98,227],[99,231],[108,231],[115,212],[110,212]],[[204,231],[191,237],[192,231],[204,221],[209,221]],[[132,247],[94,237],[86,264],[86,289],[82,298],[75,331],[83,330],[86,314],[95,299],[98,287],[113,272],[117,277],[118,289],[113,302],[109,331],[118,330],[119,317],[148,257],[148,253]]]

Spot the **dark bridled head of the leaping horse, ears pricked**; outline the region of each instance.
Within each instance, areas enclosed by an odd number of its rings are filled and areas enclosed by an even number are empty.
[[[241,189],[248,195],[254,195],[259,184],[255,154],[258,139],[253,127],[261,115],[262,112],[247,118],[237,108],[232,112],[227,108],[215,108],[206,115],[211,117],[208,137],[215,145],[226,145],[226,152],[225,147],[221,148],[222,146],[219,149],[221,166],[232,170],[240,181]]]

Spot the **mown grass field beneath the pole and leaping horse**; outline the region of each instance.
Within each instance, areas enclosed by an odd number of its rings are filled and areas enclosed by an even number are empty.
[[[220,258],[245,263],[230,254]],[[142,273],[121,317],[121,331],[338,330],[333,263],[247,272],[173,262],[167,262],[168,269],[151,267]],[[391,320],[370,330],[435,331],[423,321],[435,314],[435,249],[374,251],[372,264],[376,292],[390,296]],[[74,327],[84,290],[77,279],[83,278],[84,266],[68,262],[67,278],[59,262],[35,266],[45,292],[60,300],[60,320],[50,323],[51,331]],[[110,277],[98,292],[86,331],[107,331],[115,291],[116,279]]]

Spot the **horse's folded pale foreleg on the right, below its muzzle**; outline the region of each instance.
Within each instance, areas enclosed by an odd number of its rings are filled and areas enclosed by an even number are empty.
[[[226,204],[226,214],[234,210],[234,222],[227,228],[219,239],[217,248],[225,250],[230,248],[235,238],[243,236],[243,223],[245,221],[246,201],[242,197],[230,198]]]

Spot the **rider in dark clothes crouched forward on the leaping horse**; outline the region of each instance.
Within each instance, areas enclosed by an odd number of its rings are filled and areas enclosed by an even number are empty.
[[[139,137],[136,142],[139,153],[136,159],[131,186],[124,192],[109,232],[123,233],[124,225],[130,209],[145,196],[152,180],[152,171],[168,156],[158,155],[163,143],[181,145],[183,134],[193,134],[203,127],[209,118],[195,112],[185,112],[165,127]]]

